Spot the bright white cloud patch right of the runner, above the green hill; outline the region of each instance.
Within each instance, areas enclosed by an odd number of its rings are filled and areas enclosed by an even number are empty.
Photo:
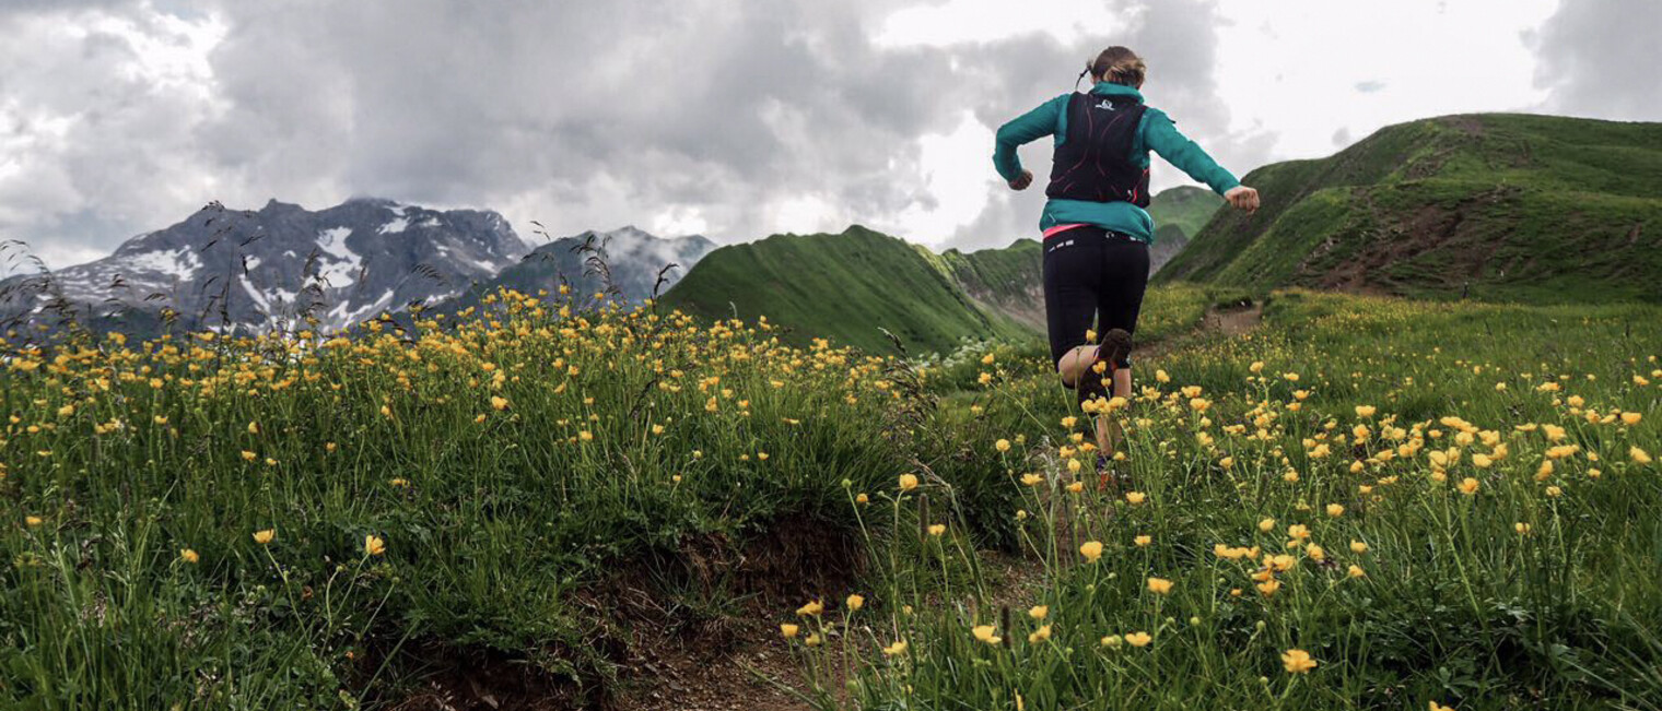
[[[1276,133],[1273,156],[1333,151],[1416,118],[1539,105],[1524,33],[1556,0],[1235,0],[1218,8],[1218,95],[1237,131]]]

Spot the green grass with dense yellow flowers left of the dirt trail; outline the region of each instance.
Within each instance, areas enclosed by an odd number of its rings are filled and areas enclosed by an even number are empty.
[[[846,537],[846,487],[929,457],[883,360],[562,307],[8,352],[0,706],[396,706],[445,658],[600,703],[637,613],[597,591],[735,615],[766,586],[700,561],[793,561],[771,532]]]

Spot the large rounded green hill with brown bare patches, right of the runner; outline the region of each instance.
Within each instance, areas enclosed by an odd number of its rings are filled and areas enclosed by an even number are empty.
[[[1158,279],[1496,301],[1662,301],[1662,125],[1534,115],[1386,126],[1246,174]]]

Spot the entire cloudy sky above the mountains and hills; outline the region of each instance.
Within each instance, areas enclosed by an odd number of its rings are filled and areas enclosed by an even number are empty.
[[[0,238],[65,266],[211,199],[384,196],[529,239],[1002,246],[1042,194],[992,131],[1107,45],[1245,174],[1446,113],[1662,120],[1659,27],[1655,0],[0,0]]]

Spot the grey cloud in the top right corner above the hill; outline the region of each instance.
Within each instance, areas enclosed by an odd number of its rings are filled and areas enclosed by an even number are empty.
[[[1566,0],[1537,33],[1536,85],[1547,108],[1577,116],[1662,120],[1662,3]]]

